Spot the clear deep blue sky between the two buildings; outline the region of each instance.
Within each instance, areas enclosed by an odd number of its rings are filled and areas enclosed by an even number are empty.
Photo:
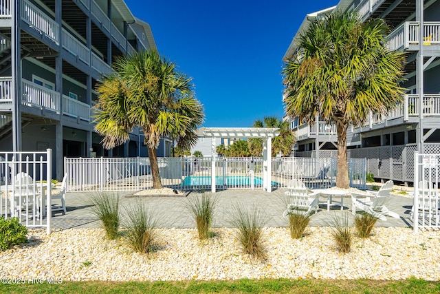
[[[338,0],[125,0],[160,54],[192,76],[205,127],[283,117],[281,60],[307,13]]]

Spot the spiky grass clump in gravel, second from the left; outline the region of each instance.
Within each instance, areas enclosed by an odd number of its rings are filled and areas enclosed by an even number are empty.
[[[125,212],[127,220],[124,222],[124,227],[129,246],[136,252],[150,253],[155,249],[157,240],[155,213],[141,201],[126,207]]]

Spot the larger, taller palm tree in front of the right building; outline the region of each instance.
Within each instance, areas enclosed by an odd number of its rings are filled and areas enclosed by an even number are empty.
[[[405,57],[385,47],[386,32],[381,19],[362,23],[357,14],[335,12],[310,23],[283,67],[287,114],[309,124],[319,115],[336,125],[340,188],[349,187],[347,127],[402,100]]]

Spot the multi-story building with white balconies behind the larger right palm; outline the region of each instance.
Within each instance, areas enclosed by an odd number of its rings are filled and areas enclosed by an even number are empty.
[[[407,56],[403,103],[384,117],[372,114],[365,125],[350,127],[348,156],[367,158],[375,178],[412,182],[414,152],[440,153],[440,1],[341,0],[337,6],[307,15],[283,60],[299,49],[298,36],[310,21],[336,10],[355,10],[362,21],[384,19],[391,28],[386,46]],[[285,119],[298,138],[297,156],[336,156],[336,127],[319,118],[314,125]]]

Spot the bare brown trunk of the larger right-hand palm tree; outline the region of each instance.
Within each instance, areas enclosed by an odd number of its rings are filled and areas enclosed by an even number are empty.
[[[338,174],[336,175],[336,187],[348,189],[349,165],[347,162],[347,125],[337,121],[336,132],[338,133]]]

